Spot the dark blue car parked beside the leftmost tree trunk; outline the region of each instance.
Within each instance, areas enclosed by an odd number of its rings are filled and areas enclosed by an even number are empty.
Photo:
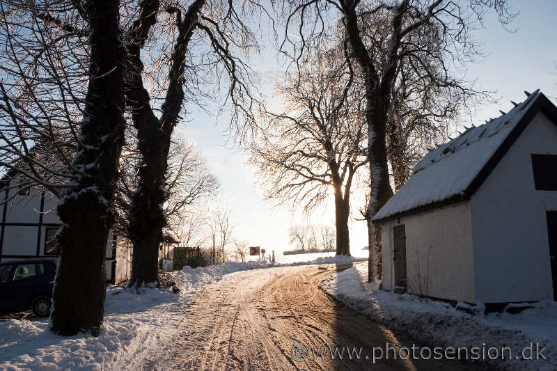
[[[33,309],[38,317],[50,314],[56,262],[27,259],[0,263],[0,312]]]

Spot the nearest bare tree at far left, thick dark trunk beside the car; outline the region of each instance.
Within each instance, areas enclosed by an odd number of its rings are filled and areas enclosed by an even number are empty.
[[[0,164],[59,197],[51,329],[62,335],[96,336],[102,325],[125,123],[119,7],[119,1],[0,1]]]

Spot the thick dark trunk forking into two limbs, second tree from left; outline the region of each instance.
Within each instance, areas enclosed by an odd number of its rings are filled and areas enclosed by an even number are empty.
[[[184,19],[181,13],[177,16],[178,37],[171,56],[172,65],[168,73],[168,90],[162,116],[158,119],[152,112],[148,92],[143,88],[140,52],[148,31],[155,24],[159,1],[149,0],[141,3],[141,17],[134,24],[137,30],[136,39],[130,45],[134,47],[130,61],[136,72],[130,81],[128,100],[132,104],[134,126],[137,129],[138,150],[143,163],[139,166],[139,185],[132,198],[130,208],[130,239],[134,245],[132,259],[131,285],[142,285],[157,281],[157,257],[159,244],[162,240],[162,228],[166,226],[166,217],[162,210],[165,198],[164,175],[168,167],[168,149],[171,136],[184,101],[184,70],[187,45],[193,35],[198,15],[205,0],[191,3]],[[180,11],[180,10],[176,10]]]

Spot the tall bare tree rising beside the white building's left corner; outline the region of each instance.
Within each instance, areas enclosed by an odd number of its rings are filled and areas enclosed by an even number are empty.
[[[455,77],[450,64],[483,54],[471,31],[488,8],[496,10],[503,24],[515,17],[506,0],[290,0],[282,8],[287,19],[282,52],[299,63],[331,33],[341,33],[363,77],[371,186],[366,208],[370,281],[380,278],[382,270],[381,232],[371,220],[393,194],[387,156],[393,88],[404,76],[401,71],[410,68],[425,86],[448,91],[449,97],[460,95],[465,102],[469,95],[481,93]],[[292,27],[297,29],[297,40],[290,33]]]

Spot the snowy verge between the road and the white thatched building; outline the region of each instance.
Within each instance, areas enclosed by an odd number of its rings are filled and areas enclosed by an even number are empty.
[[[322,283],[325,292],[348,306],[366,313],[389,328],[407,333],[433,347],[510,347],[512,359],[486,361],[504,370],[557,370],[557,302],[542,301],[535,308],[515,315],[509,313],[483,314],[483,308],[469,308],[470,315],[448,303],[425,300],[408,294],[372,290],[367,283],[368,265],[355,265],[332,274]],[[466,306],[462,303],[461,306]],[[545,350],[537,361],[520,359],[525,347],[533,343]],[[464,353],[463,353],[464,354]],[[492,355],[495,353],[493,352]],[[505,351],[505,358],[508,352]],[[529,351],[524,353],[529,357]],[[501,357],[501,352],[499,352]]]

